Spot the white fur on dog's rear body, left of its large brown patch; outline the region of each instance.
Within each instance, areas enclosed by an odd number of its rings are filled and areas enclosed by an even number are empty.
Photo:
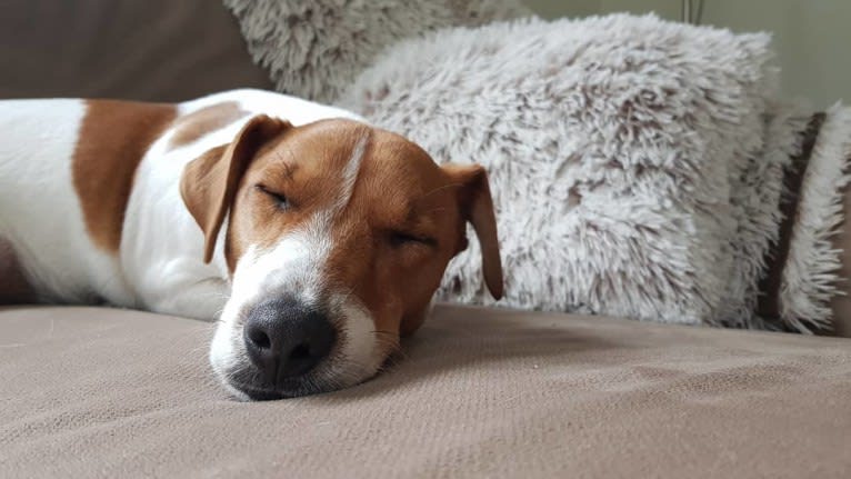
[[[10,241],[44,300],[134,306],[117,258],[86,230],[71,156],[80,100],[0,101],[0,237]]]

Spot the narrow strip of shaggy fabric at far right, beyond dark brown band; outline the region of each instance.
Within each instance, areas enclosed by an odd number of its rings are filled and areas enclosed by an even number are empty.
[[[801,332],[830,327],[830,299],[837,293],[841,265],[831,239],[842,224],[849,158],[851,108],[835,104],[827,112],[804,174],[783,269],[781,319]]]

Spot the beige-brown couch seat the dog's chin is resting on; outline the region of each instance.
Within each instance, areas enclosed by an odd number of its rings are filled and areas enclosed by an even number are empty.
[[[851,342],[440,307],[359,387],[241,403],[212,325],[0,311],[0,477],[848,477]]]

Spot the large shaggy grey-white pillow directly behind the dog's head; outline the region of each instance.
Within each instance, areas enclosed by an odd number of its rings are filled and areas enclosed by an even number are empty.
[[[653,16],[450,29],[397,44],[340,103],[488,168],[502,305],[719,323],[731,188],[765,147],[777,91],[769,43]],[[477,248],[442,299],[491,302]]]

